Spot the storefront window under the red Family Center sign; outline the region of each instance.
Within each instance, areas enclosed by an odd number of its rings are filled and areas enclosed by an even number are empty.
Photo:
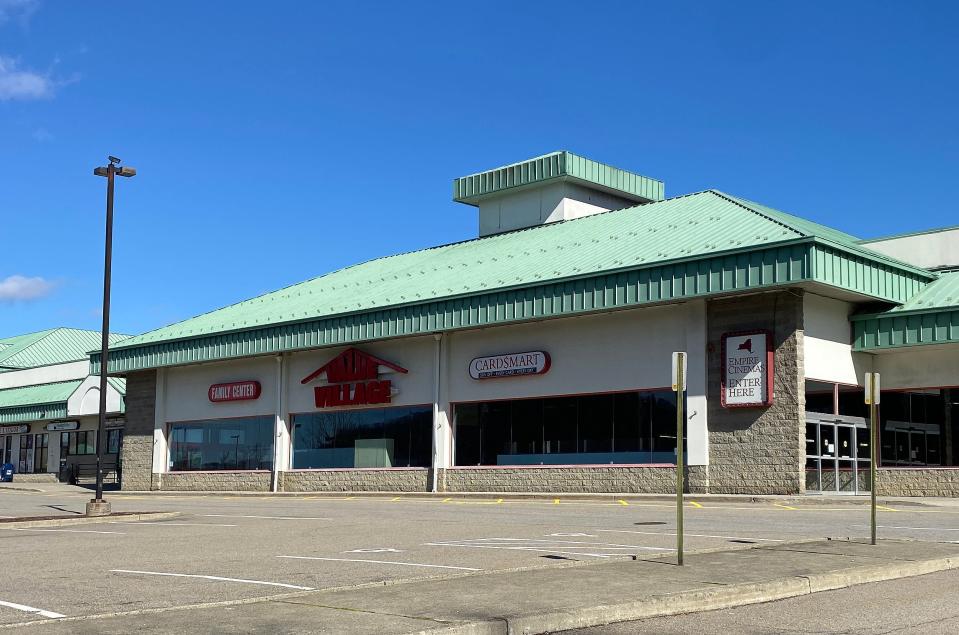
[[[273,417],[170,424],[170,469],[273,468]]]

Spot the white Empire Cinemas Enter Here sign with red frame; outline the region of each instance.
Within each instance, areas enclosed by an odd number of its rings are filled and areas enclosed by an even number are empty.
[[[768,406],[773,399],[772,334],[723,335],[722,404],[725,408]]]

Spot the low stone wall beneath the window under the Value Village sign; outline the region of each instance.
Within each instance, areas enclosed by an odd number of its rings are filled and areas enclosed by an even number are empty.
[[[280,472],[284,492],[426,492],[429,470],[291,470]]]

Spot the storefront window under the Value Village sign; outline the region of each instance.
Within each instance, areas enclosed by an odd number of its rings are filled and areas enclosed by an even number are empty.
[[[293,415],[293,468],[429,467],[432,406]]]

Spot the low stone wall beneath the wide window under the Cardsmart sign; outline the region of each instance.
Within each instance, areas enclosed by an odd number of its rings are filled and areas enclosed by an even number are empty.
[[[686,490],[701,493],[704,487],[705,467],[690,467]],[[455,467],[446,470],[446,491],[670,494],[676,471],[668,465]]]

